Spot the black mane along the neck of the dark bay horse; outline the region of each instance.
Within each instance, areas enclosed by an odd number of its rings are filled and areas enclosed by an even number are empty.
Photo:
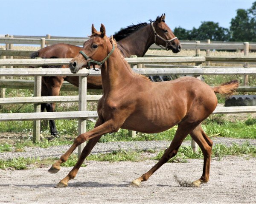
[[[160,17],[157,16],[157,20],[159,20]],[[164,21],[164,20],[163,20]],[[152,23],[154,20],[149,19],[149,22]],[[129,35],[135,33],[136,31],[140,30],[141,28],[147,26],[148,23],[139,23],[137,25],[132,24],[131,26],[127,26],[126,28],[123,28],[122,30],[118,31],[116,34],[113,34],[113,37],[116,39],[116,41],[122,40],[125,37],[128,37]]]

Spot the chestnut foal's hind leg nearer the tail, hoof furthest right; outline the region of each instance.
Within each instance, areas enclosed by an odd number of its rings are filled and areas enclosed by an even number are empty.
[[[204,133],[201,125],[198,125],[191,133],[189,133],[192,139],[199,145],[204,154],[204,168],[203,175],[198,180],[194,181],[193,184],[197,187],[200,184],[207,183],[209,181],[210,162],[212,154],[212,140]]]

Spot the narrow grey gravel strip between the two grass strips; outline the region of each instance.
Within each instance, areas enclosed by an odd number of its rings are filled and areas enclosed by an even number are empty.
[[[212,138],[214,144],[226,144],[231,145],[232,143],[243,144],[249,141],[250,144],[256,145],[256,139],[232,139],[216,137]],[[171,141],[134,141],[134,142],[107,142],[107,143],[97,143],[93,148],[92,153],[107,153],[113,150],[119,150],[122,148],[124,150],[143,150],[143,149],[164,149],[169,147]],[[185,141],[183,145],[190,145],[190,141]],[[24,152],[4,152],[0,153],[0,159],[12,159],[17,157],[60,157],[64,152],[68,150],[70,145],[53,146],[49,148],[40,147],[24,147]],[[77,149],[75,150],[77,153]]]

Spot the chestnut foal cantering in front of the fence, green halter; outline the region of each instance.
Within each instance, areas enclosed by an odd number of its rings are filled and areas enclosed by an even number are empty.
[[[193,184],[199,187],[200,184],[207,183],[212,141],[204,133],[201,122],[215,110],[218,103],[215,94],[233,94],[239,86],[238,81],[226,82],[214,88],[194,77],[152,82],[145,76],[135,74],[121,51],[115,47],[115,40],[105,35],[103,25],[100,32],[92,26],[90,40],[84,43],[82,51],[70,61],[70,71],[77,73],[81,68],[90,68],[87,59],[96,63],[103,63],[102,60],[105,60],[100,68],[103,96],[98,102],[99,118],[94,129],[79,135],[70,149],[49,169],[50,173],[57,173],[60,165],[67,161],[76,147],[89,140],[73,169],[56,187],[67,187],[68,181],[75,178],[84,159],[103,134],[117,132],[119,128],[159,133],[174,125],[178,125],[174,139],[161,159],[131,184],[140,186],[142,181],[147,181],[158,168],[177,154],[188,134],[198,143],[204,155],[203,174]]]

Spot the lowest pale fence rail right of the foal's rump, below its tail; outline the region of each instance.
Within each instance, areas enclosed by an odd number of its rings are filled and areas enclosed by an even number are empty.
[[[217,107],[215,111],[213,111],[213,114],[227,113],[256,113],[256,106]]]

